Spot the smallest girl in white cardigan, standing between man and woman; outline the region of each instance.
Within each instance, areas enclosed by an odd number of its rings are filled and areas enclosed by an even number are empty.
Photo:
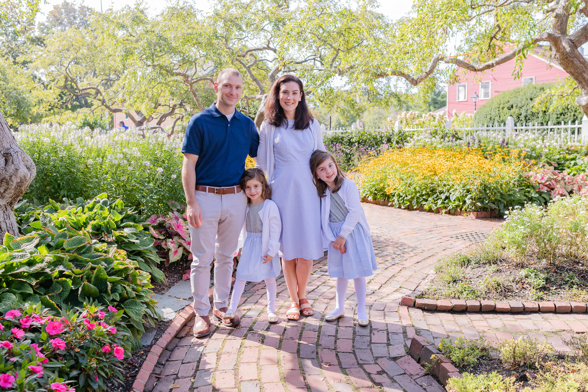
[[[223,320],[236,317],[237,306],[245,289],[246,282],[265,280],[268,292],[268,321],[278,322],[276,314],[276,277],[280,274],[280,258],[276,257],[280,249],[282,222],[278,206],[270,197],[270,188],[263,170],[255,167],[245,170],[241,178],[241,187],[245,190],[248,205],[241,236],[244,240],[241,257],[237,264],[233,296],[229,309]]]

